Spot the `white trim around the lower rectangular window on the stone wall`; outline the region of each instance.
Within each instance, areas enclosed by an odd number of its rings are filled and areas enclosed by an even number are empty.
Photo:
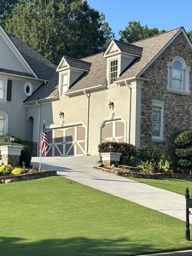
[[[153,134],[151,134],[151,138],[152,140],[156,140],[156,141],[163,141],[164,137],[163,137],[163,132],[164,132],[164,101],[162,100],[152,100],[152,117],[151,117],[151,125],[153,125],[153,107],[161,107],[161,130],[160,130],[160,136],[153,136]],[[152,127],[151,127],[152,128]]]

